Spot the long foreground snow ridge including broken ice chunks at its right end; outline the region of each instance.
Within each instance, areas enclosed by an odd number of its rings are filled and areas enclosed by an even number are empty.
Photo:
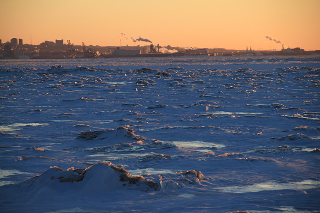
[[[62,190],[64,187],[69,187],[75,193],[88,195],[114,190],[173,190],[206,180],[200,171],[195,172],[194,170],[184,173],[179,172],[173,175],[174,177],[171,176],[132,176],[123,167],[114,166],[112,163],[100,162],[82,169],[71,167],[66,171],[58,167],[51,167],[42,174],[22,182],[20,187],[33,194],[36,194],[36,192],[43,193],[43,191],[48,193],[53,189]],[[66,182],[68,183],[67,185],[65,185]]]

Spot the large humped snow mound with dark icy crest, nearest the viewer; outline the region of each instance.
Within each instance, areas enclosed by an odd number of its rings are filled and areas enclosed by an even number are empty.
[[[25,183],[27,187],[40,190],[41,186],[62,188],[63,185],[59,184],[61,182],[73,183],[73,187],[82,193],[122,189],[141,191],[158,191],[160,189],[157,183],[147,181],[142,176],[132,176],[123,167],[116,167],[112,163],[106,162],[100,162],[84,169],[74,170],[72,167],[67,171],[58,167],[51,167]]]

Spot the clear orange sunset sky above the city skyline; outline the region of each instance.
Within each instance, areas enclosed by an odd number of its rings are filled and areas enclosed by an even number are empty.
[[[0,0],[0,39],[75,45],[320,49],[320,0]]]

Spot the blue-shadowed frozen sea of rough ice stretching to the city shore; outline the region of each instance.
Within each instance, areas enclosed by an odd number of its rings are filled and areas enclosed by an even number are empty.
[[[0,212],[320,212],[320,56],[0,60]]]

